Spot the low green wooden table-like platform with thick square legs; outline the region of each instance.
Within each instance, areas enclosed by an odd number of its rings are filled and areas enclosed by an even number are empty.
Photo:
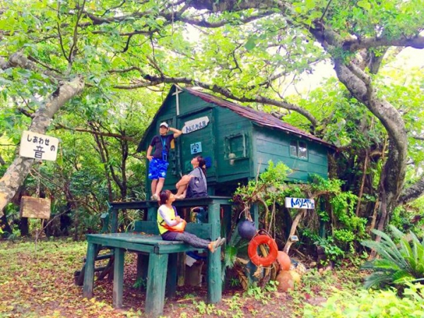
[[[122,291],[124,281],[124,254],[130,250],[148,254],[148,276],[146,289],[146,314],[157,317],[163,312],[165,302],[165,286],[168,295],[175,295],[177,288],[177,253],[198,250],[184,242],[164,241],[159,235],[146,235],[134,233],[112,233],[87,235],[88,252],[86,260],[86,273],[84,276],[83,296],[93,297],[94,259],[95,251],[101,245],[114,247],[114,280],[113,280],[113,306],[122,307]],[[216,251],[220,254],[220,249]],[[208,259],[213,259],[209,257]],[[168,262],[170,266],[168,266]],[[220,264],[220,262],[219,262]],[[216,265],[216,264],[214,264]],[[212,266],[212,264],[209,264]],[[169,271],[169,272],[168,272]],[[220,295],[220,266],[212,266],[209,273],[208,299],[214,300],[214,295]],[[219,273],[219,275],[218,275]],[[211,293],[211,295],[209,295]],[[220,298],[219,298],[220,300]],[[213,302],[218,302],[215,299]]]

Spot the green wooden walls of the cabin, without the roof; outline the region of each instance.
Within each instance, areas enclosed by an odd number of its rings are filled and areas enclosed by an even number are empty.
[[[173,88],[174,89],[174,88]],[[189,134],[182,134],[175,141],[175,149],[170,151],[170,166],[168,167],[165,189],[175,189],[175,184],[181,175],[192,170],[190,160],[195,155],[208,158],[207,169],[209,194],[215,194],[214,184],[218,188],[233,186],[239,180],[256,177],[258,168],[262,172],[268,167],[269,160],[274,163],[282,161],[293,173],[289,175],[292,181],[304,182],[308,175],[314,173],[327,177],[327,148],[300,139],[285,131],[259,126],[249,119],[232,112],[225,107],[205,102],[201,98],[186,91],[179,93],[179,116],[172,90],[144,139],[143,148],[155,134],[158,134],[160,122],[167,122],[172,127],[182,129],[185,122],[201,117],[208,117],[208,124]],[[303,160],[290,155],[290,141],[305,141],[308,155]],[[201,145],[201,152],[192,153],[195,146]],[[146,175],[147,179],[147,175]],[[150,182],[148,182],[150,189]]]

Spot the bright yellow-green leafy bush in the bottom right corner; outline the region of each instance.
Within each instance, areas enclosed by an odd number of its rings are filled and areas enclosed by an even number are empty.
[[[303,317],[424,317],[424,285],[397,290],[338,290],[322,306],[306,305]]]

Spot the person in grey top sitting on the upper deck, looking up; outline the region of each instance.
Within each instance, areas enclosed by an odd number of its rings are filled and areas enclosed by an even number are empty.
[[[206,162],[204,158],[198,155],[190,163],[193,166],[192,172],[188,175],[183,175],[181,180],[175,184],[175,187],[177,187],[176,199],[200,198],[208,195]]]

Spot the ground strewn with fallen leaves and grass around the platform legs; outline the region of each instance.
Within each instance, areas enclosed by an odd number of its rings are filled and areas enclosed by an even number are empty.
[[[143,317],[144,299],[136,283],[136,257],[127,253],[124,307],[112,307],[112,282],[95,281],[95,298],[82,297],[73,273],[81,269],[86,242],[47,240],[0,241],[0,317]],[[302,317],[305,305],[319,306],[335,289],[355,290],[355,270],[319,274],[310,271],[290,293],[271,288],[247,292],[232,287],[220,304],[206,304],[207,289],[182,287],[165,300],[163,317]]]

